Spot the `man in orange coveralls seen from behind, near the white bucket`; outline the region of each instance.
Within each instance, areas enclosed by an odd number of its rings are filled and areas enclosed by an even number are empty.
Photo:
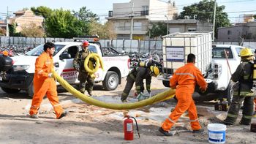
[[[195,67],[195,55],[190,53],[187,56],[187,64],[184,67],[180,67],[173,74],[173,77],[170,79],[170,87],[176,88],[176,98],[178,103],[170,113],[169,117],[165,119],[162,124],[162,127],[159,128],[159,132],[165,136],[172,136],[168,132],[173,124],[178,121],[178,118],[181,115],[188,111],[190,124],[194,133],[203,132],[199,121],[197,120],[197,110],[195,107],[195,102],[192,99],[192,94],[195,91],[195,85],[200,86],[201,91],[206,91],[207,83],[203,78],[202,73],[197,67]]]

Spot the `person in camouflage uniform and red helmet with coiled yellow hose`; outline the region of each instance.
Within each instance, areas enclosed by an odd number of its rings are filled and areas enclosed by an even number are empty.
[[[89,96],[92,96],[94,77],[91,77],[91,75],[89,75],[89,72],[86,72],[86,69],[84,67],[84,61],[86,57],[89,56],[89,54],[91,53],[88,48],[89,42],[84,41],[82,47],[82,50],[78,51],[78,53],[76,53],[75,55],[75,58],[73,60],[73,66],[79,72],[79,91],[84,94],[87,90]]]

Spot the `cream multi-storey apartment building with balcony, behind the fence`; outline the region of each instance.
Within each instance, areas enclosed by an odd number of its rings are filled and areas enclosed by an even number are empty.
[[[132,39],[146,39],[152,23],[161,20],[167,22],[176,19],[177,15],[174,1],[131,0],[114,3],[106,19],[114,23],[118,39],[130,39],[131,36]]]

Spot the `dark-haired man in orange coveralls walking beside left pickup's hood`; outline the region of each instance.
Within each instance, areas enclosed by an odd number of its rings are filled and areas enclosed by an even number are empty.
[[[36,60],[34,72],[34,96],[29,110],[30,118],[38,118],[38,110],[45,94],[48,97],[50,104],[53,105],[57,119],[67,115],[67,111],[64,111],[59,104],[56,82],[53,77],[51,77],[54,51],[55,45],[52,42],[46,42],[44,45],[44,52]]]

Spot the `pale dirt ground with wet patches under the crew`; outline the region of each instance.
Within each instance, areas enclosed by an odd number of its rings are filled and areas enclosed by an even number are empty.
[[[97,95],[95,99],[120,102],[125,83],[123,79],[115,91],[105,91],[101,83],[98,83],[94,87],[94,94]],[[151,88],[153,94],[167,90],[156,78],[152,80]],[[163,137],[157,130],[176,105],[176,101],[170,99],[129,110],[129,115],[137,118],[140,138],[135,130],[135,140],[126,141],[122,118],[124,110],[88,105],[63,88],[58,91],[61,105],[69,111],[67,117],[60,120],[55,119],[48,99],[42,102],[39,118],[31,119],[28,116],[31,99],[25,92],[6,94],[0,91],[0,143],[208,143],[207,125],[219,123],[226,115],[226,112],[214,111],[214,102],[199,101],[202,97],[195,94],[200,124],[205,130],[203,134],[193,134],[190,131],[189,118],[185,113],[173,126],[172,131],[176,131],[176,134],[173,137]],[[130,101],[135,101],[133,94],[134,91],[131,91]],[[241,118],[241,113],[239,115]],[[226,143],[256,143],[256,134],[249,132],[249,129],[249,126],[239,124],[227,126]]]

